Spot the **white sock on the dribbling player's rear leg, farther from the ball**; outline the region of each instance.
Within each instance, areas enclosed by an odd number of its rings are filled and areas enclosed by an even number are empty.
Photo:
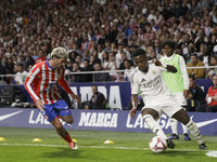
[[[199,131],[199,127],[196,126],[196,124],[194,124],[194,122],[192,120],[190,120],[186,126],[189,129],[191,134],[196,138],[199,144],[204,143],[202,140],[202,136],[201,136],[201,132]]]

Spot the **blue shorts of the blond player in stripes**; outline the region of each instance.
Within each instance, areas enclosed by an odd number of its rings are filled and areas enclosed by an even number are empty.
[[[67,104],[61,98],[54,104],[44,105],[43,111],[39,110],[41,114],[51,122],[56,116],[68,116],[72,114]]]

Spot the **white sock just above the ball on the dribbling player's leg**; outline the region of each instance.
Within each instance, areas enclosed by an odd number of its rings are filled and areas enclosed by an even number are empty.
[[[146,125],[150,127],[150,130],[152,130],[153,133],[155,133],[157,136],[168,139],[159,124],[154,120],[154,118],[151,114],[144,114],[142,118],[144,119]]]

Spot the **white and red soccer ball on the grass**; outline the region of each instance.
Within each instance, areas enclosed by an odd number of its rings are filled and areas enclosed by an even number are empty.
[[[150,149],[154,153],[161,153],[166,150],[167,143],[166,139],[161,136],[155,136],[150,140]]]

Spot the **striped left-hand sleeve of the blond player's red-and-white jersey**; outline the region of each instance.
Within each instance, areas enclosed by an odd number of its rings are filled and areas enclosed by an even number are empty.
[[[35,103],[36,103],[36,100],[39,99],[39,96],[33,90],[31,83],[36,80],[36,76],[39,72],[40,72],[40,68],[37,65],[35,65],[33,67],[33,69],[29,71],[29,73],[26,78],[26,81],[24,82],[24,86],[25,86],[26,91],[31,96],[31,98],[34,99]]]

